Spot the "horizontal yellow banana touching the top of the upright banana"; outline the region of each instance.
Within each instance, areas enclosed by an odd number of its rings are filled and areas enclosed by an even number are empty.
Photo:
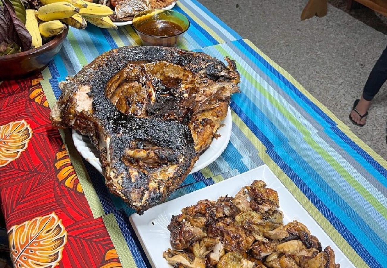
[[[66,19],[79,12],[79,7],[66,2],[50,3],[38,9],[38,18],[42,21]]]

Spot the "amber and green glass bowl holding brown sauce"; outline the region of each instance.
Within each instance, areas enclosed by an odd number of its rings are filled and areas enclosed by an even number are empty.
[[[173,22],[182,27],[183,31],[173,36],[150,35],[141,32],[139,27],[149,21]],[[190,27],[190,21],[188,21],[185,15],[173,10],[151,9],[135,15],[132,21],[132,26],[139,35],[144,46],[175,46]]]

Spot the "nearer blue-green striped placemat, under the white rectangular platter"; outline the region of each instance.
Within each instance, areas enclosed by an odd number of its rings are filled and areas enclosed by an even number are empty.
[[[233,134],[222,156],[171,198],[265,163],[355,266],[385,267],[386,161],[248,40],[199,51],[235,59],[242,92],[232,97]],[[149,267],[132,213],[103,220],[123,264]]]

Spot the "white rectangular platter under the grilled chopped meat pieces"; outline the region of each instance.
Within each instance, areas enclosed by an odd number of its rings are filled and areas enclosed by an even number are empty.
[[[172,248],[170,231],[167,229],[172,215],[180,214],[182,208],[194,205],[202,199],[216,201],[220,196],[226,194],[235,196],[242,187],[250,185],[253,180],[263,180],[267,187],[278,192],[280,210],[284,213],[285,224],[292,220],[298,220],[305,224],[310,232],[319,239],[323,249],[328,245],[332,247],[335,251],[336,263],[339,263],[341,268],[355,267],[266,165],[159,204],[145,211],[144,215],[131,215],[130,222],[152,267],[171,267],[162,255],[163,251],[169,247]]]

